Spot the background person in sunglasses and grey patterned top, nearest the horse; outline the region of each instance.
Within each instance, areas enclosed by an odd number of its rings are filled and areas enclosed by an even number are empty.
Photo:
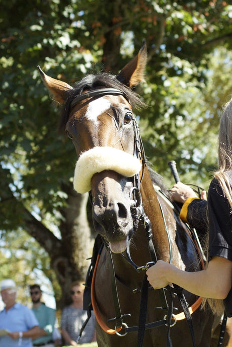
[[[70,287],[70,294],[72,304],[64,307],[61,313],[61,335],[65,343],[77,346],[96,341],[95,316],[92,313],[80,341],[76,342],[82,325],[87,319],[87,311],[83,310],[83,285],[78,281],[73,282]]]

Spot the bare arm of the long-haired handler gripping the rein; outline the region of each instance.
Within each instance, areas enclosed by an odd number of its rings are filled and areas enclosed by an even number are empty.
[[[185,272],[174,265],[158,261],[146,272],[147,279],[154,289],[166,287],[170,283],[206,298],[225,299],[232,281],[232,262],[214,256],[206,270]]]

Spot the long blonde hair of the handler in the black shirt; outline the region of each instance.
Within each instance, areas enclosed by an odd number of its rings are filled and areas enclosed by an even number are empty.
[[[218,169],[214,173],[227,198],[232,213],[232,189],[229,184],[227,172],[232,170],[232,98],[223,107],[218,134]],[[208,242],[207,242],[208,244]],[[203,298],[202,306],[206,302],[213,313],[222,314],[224,311],[223,300]]]

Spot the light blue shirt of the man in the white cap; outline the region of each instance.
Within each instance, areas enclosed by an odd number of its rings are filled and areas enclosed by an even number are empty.
[[[27,306],[16,303],[6,311],[6,308],[0,312],[0,329],[14,331],[27,331],[34,326],[39,325],[34,313]],[[0,347],[32,347],[30,337],[17,338],[14,340],[10,336],[0,337]]]

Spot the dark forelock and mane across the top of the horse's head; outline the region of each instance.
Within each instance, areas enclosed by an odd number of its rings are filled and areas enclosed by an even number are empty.
[[[102,86],[103,88],[115,88],[122,91],[127,100],[130,102],[132,108],[140,109],[146,106],[146,104],[142,101],[141,97],[133,92],[130,88],[128,88],[125,84],[122,84],[117,79],[117,76],[112,75],[110,73],[101,72],[97,74],[89,74],[85,76],[81,81],[76,82],[73,85],[73,89],[70,92],[67,92],[67,98],[61,112],[59,130],[61,132],[64,131],[65,125],[69,118],[70,113],[70,104],[72,100],[81,95],[85,91],[92,91]]]

